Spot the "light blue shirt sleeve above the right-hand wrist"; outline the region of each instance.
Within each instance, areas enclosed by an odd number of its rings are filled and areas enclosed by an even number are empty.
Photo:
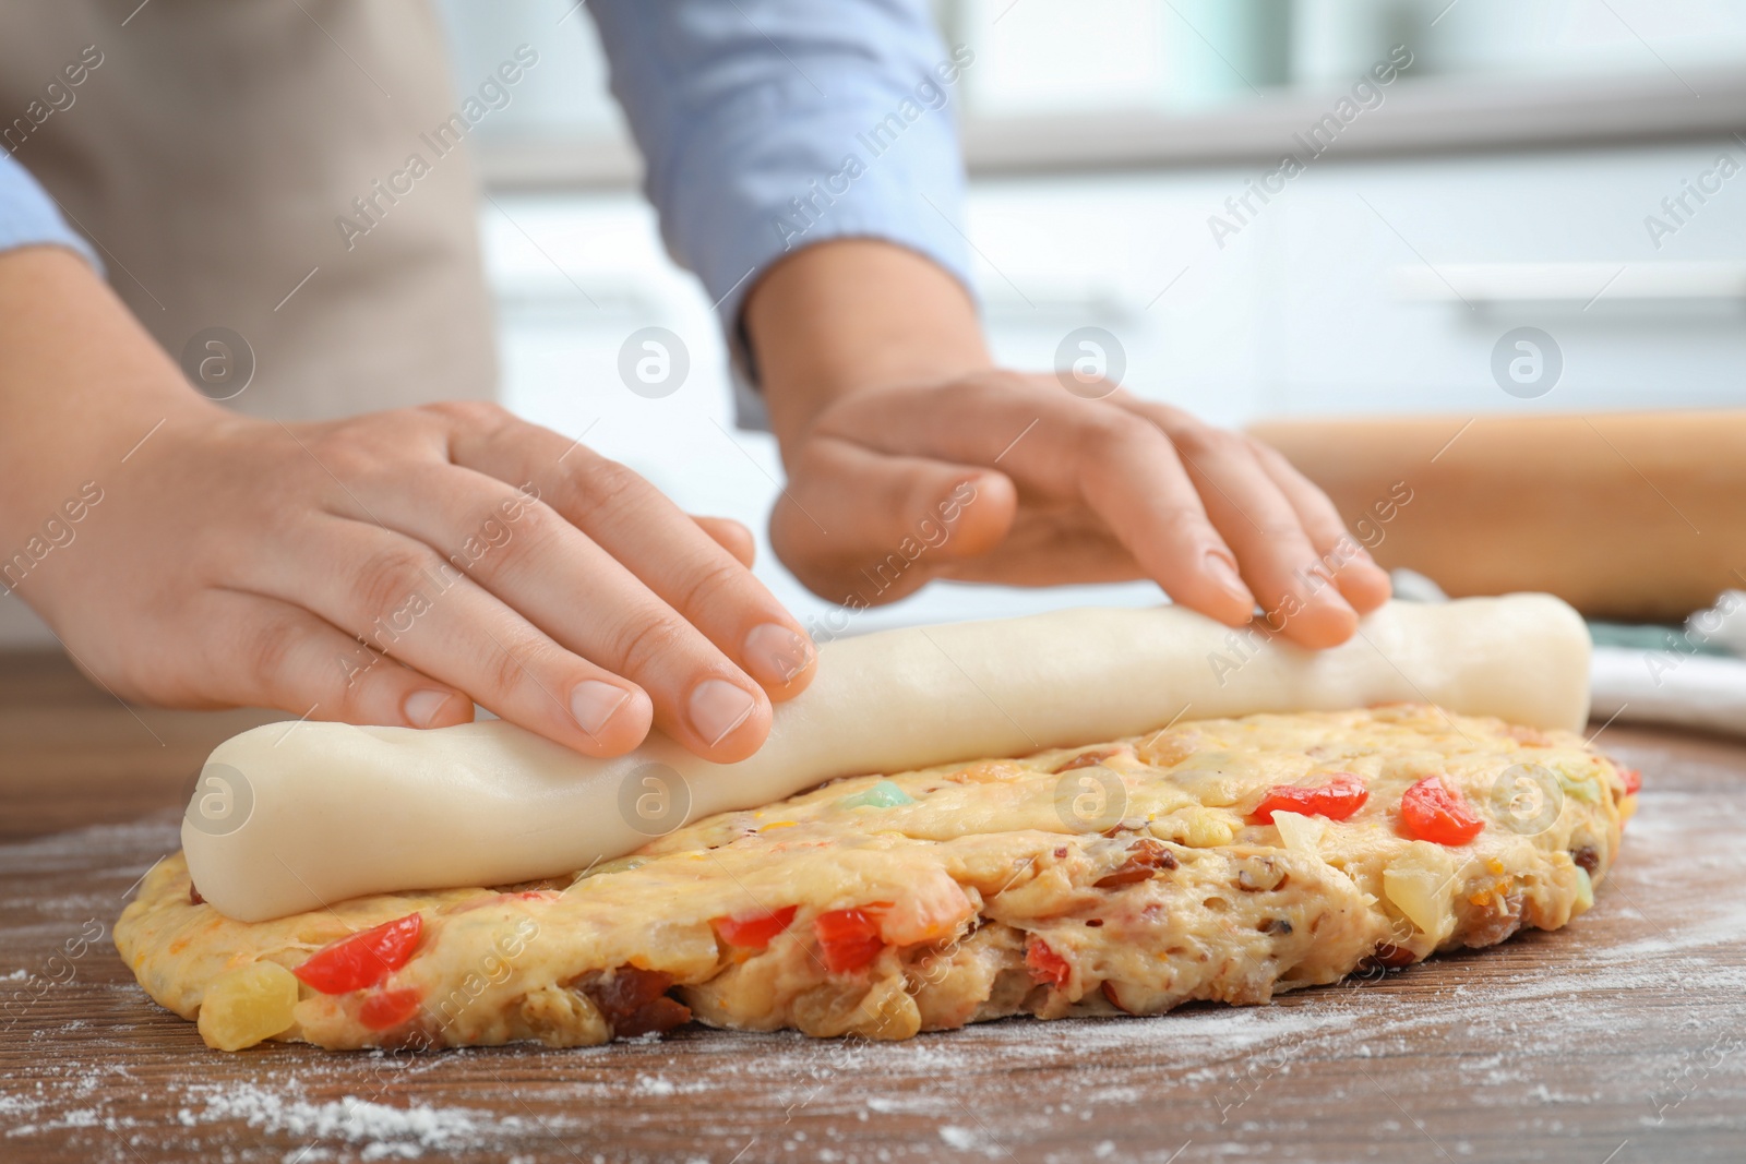
[[[974,54],[927,0],[592,0],[674,260],[744,366],[758,274],[801,246],[873,237],[969,286],[952,99]]]

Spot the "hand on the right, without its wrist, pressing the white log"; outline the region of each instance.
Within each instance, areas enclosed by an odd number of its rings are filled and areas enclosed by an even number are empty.
[[[1116,391],[974,372],[838,396],[784,442],[770,534],[815,593],[876,606],[932,578],[1151,578],[1231,627],[1259,602],[1306,647],[1344,642],[1388,576],[1273,448]]]

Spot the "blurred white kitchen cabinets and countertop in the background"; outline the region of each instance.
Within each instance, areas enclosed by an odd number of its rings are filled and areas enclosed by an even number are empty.
[[[522,42],[541,54],[473,138],[505,403],[763,541],[775,447],[733,428],[711,304],[660,246],[587,12],[443,9],[457,91]],[[943,0],[936,17],[974,51],[952,110],[1009,366],[1048,370],[1069,332],[1103,328],[1126,387],[1227,426],[1746,403],[1746,3]],[[1303,154],[1292,134],[1395,45],[1413,63],[1381,103],[1236,220],[1226,199]],[[1238,229],[1215,239],[1213,215]],[[618,375],[650,325],[690,351],[660,400]],[[1517,326],[1557,344],[1550,391],[1495,379]],[[763,551],[796,613],[828,609]],[[856,630],[1084,600],[1158,592],[936,585]]]

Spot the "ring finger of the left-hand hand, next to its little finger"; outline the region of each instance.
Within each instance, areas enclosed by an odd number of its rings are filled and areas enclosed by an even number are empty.
[[[464,691],[503,719],[588,756],[622,756],[653,707],[634,682],[553,642],[430,544],[340,517],[288,531],[304,572],[265,571],[258,593],[302,602],[372,649]]]

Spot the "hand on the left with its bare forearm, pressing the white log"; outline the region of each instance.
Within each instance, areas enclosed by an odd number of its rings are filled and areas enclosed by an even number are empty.
[[[7,586],[117,695],[417,728],[477,702],[590,756],[655,724],[726,763],[807,686],[739,524],[492,405],[230,415],[119,311],[70,255],[0,257]]]

